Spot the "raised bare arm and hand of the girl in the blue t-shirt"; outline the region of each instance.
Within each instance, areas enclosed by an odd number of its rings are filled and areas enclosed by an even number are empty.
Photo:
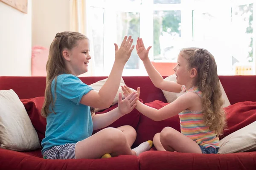
[[[134,49],[132,42],[133,39],[131,39],[131,36],[129,36],[128,39],[127,36],[125,36],[119,49],[117,44],[114,44],[116,57],[107,81],[99,92],[92,90],[84,95],[81,99],[81,104],[101,109],[108,108],[112,104],[120,85],[125,63],[128,61],[131,56],[131,51]]]

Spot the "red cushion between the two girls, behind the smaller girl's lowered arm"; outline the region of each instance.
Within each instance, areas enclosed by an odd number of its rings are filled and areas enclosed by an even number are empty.
[[[155,100],[154,102],[145,103],[152,108],[160,109],[169,103],[164,103],[159,100]],[[142,142],[147,140],[153,140],[153,137],[156,133],[161,132],[164,127],[169,126],[180,132],[180,119],[178,115],[175,115],[169,119],[162,120],[156,122],[154,120],[149,119],[148,117],[141,114],[140,123],[137,128],[137,138],[134,142],[134,146],[138,146]]]

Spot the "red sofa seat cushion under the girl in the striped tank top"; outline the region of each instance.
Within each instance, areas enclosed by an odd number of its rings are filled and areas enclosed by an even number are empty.
[[[256,170],[256,152],[229,154],[141,153],[140,170]]]

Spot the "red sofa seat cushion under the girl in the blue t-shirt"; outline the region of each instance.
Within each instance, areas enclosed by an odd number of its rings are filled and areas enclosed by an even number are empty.
[[[51,160],[0,149],[1,170],[140,170],[139,158],[121,155],[109,159]]]

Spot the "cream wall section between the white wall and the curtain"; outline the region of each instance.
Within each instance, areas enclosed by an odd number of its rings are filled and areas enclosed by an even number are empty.
[[[49,48],[55,34],[70,29],[69,0],[35,0],[32,3],[32,46]]]

